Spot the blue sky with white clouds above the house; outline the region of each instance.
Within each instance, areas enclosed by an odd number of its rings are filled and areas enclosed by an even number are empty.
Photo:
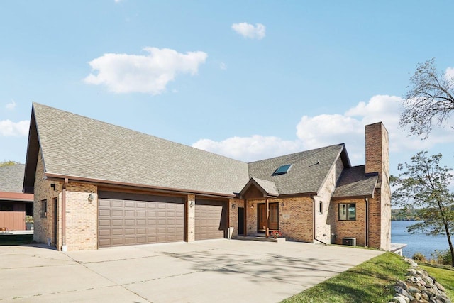
[[[454,75],[452,1],[1,1],[0,160],[25,162],[32,102],[239,160],[389,131],[391,170],[454,133],[398,127],[419,62]]]

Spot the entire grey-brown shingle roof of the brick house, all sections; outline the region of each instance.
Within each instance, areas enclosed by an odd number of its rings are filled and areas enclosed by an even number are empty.
[[[33,190],[39,148],[48,176],[227,196],[240,192],[251,178],[273,195],[316,193],[339,158],[344,167],[350,167],[343,144],[245,163],[33,104],[24,181],[27,192]],[[272,175],[287,164],[292,168],[286,174]],[[349,180],[345,176],[343,182]],[[336,189],[337,193],[370,189],[370,180],[353,183],[340,182],[343,189]]]

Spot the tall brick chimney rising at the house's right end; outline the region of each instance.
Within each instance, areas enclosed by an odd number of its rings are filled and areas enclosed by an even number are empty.
[[[389,183],[388,131],[382,122],[365,126],[366,173],[378,172],[378,182]]]

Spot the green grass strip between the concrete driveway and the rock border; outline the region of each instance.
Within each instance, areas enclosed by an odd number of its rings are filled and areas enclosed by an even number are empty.
[[[407,268],[399,255],[384,253],[282,302],[389,302]]]

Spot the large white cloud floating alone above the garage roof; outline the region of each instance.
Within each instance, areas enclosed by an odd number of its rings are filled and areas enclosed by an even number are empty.
[[[104,84],[115,93],[161,94],[177,74],[196,75],[206,53],[178,53],[169,48],[144,48],[148,55],[107,53],[89,62],[97,71],[84,79],[89,84]]]

